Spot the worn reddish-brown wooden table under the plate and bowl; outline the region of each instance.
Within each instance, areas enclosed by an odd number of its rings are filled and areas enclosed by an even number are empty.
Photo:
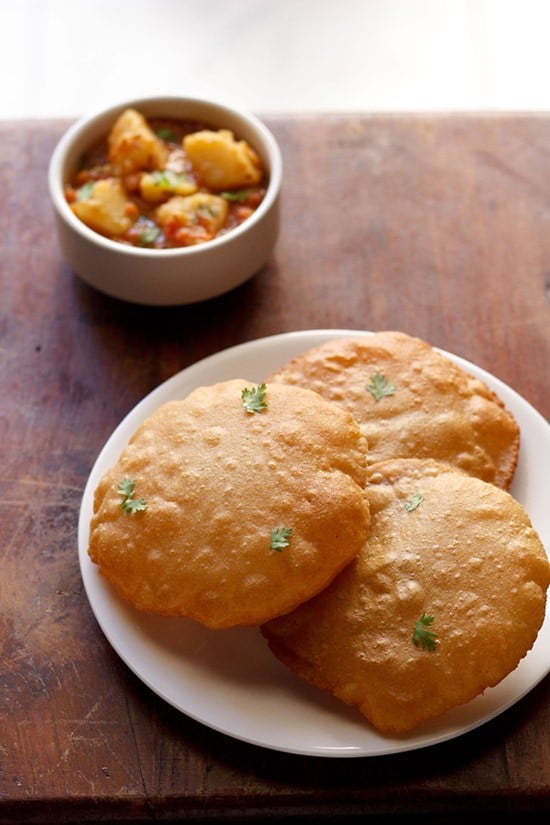
[[[169,309],[96,293],[62,260],[46,168],[68,124],[0,124],[0,822],[542,819],[548,678],[432,748],[289,755],[159,699],[84,594],[76,527],[100,448],[145,394],[222,348],[401,329],[550,416],[550,117],[266,121],[285,163],[270,264],[232,294]]]

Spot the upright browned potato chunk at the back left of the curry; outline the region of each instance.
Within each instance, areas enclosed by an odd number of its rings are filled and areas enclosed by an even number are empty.
[[[109,132],[107,144],[115,175],[162,169],[166,163],[166,146],[135,109],[126,109],[119,115]]]

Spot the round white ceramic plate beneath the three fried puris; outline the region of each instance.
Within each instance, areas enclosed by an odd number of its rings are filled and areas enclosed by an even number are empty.
[[[359,715],[291,674],[259,630],[211,631],[185,619],[142,614],[118,598],[87,555],[93,491],[137,426],[160,404],[197,386],[230,378],[258,383],[299,353],[356,330],[312,330],[241,344],[183,370],[143,399],[113,432],[92,469],[80,512],[78,543],[84,586],[105,636],[122,660],[158,696],[199,722],[236,739],[287,753],[325,757],[379,756],[452,739],[494,718],[538,684],[550,669],[550,610],[538,639],[516,670],[474,701],[404,738],[377,733]],[[368,333],[366,333],[368,334]],[[450,355],[484,380],[515,415],[522,433],[511,493],[550,546],[550,426],[514,390]]]

